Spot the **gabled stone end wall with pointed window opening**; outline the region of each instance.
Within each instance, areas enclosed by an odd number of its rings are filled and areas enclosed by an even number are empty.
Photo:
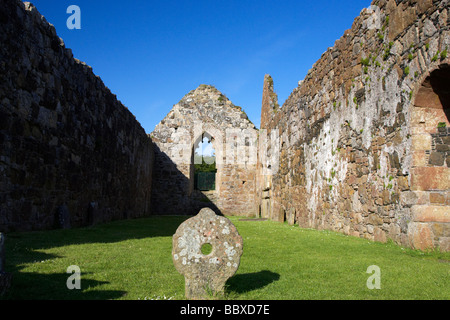
[[[213,86],[178,102],[151,134],[155,143],[153,208],[158,214],[255,215],[257,130],[241,107]],[[194,189],[194,148],[203,136],[216,155],[216,189]]]

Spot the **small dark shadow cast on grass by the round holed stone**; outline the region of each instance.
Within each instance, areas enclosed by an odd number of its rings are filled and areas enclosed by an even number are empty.
[[[262,270],[253,273],[237,274],[227,281],[228,291],[235,293],[245,293],[264,288],[274,281],[280,279],[278,273]]]

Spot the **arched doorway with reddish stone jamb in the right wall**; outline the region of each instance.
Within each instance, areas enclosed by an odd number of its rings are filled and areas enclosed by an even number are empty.
[[[411,111],[411,190],[416,204],[409,239],[414,248],[450,247],[450,66],[421,83]]]

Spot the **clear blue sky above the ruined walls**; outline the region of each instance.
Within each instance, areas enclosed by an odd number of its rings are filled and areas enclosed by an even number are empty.
[[[36,0],[74,56],[151,133],[189,91],[214,85],[259,127],[265,74],[282,105],[370,0]],[[70,5],[81,30],[69,30]]]

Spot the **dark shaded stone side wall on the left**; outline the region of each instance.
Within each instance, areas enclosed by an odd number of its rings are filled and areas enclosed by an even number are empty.
[[[0,7],[0,230],[149,214],[144,129],[32,4]]]

